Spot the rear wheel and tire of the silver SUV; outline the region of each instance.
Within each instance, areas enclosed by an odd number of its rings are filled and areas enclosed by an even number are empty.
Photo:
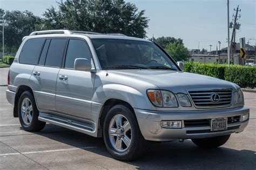
[[[37,110],[35,98],[30,91],[24,91],[18,102],[18,116],[25,131],[41,131],[45,122],[38,120],[39,111]]]

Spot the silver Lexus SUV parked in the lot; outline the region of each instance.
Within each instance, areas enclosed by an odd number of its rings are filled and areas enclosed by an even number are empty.
[[[156,43],[120,34],[52,30],[23,38],[6,98],[25,131],[45,123],[104,137],[120,160],[149,141],[218,147],[248,124],[234,83],[183,72]]]

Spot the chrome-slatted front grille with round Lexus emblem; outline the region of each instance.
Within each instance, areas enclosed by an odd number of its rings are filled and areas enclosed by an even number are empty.
[[[190,90],[188,93],[198,108],[230,106],[233,94],[232,89]]]

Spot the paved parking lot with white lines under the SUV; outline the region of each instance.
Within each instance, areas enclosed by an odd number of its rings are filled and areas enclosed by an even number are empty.
[[[8,69],[0,68],[5,84]],[[0,83],[0,85],[1,85]],[[256,93],[244,92],[250,123],[244,132],[231,135],[216,149],[183,143],[154,143],[137,161],[111,158],[102,138],[46,124],[41,132],[22,130],[0,86],[0,169],[256,169]]]

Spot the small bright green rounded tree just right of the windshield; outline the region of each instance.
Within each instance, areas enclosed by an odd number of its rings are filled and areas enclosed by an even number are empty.
[[[171,43],[165,47],[165,51],[176,61],[186,61],[190,58],[190,52],[182,43]]]

